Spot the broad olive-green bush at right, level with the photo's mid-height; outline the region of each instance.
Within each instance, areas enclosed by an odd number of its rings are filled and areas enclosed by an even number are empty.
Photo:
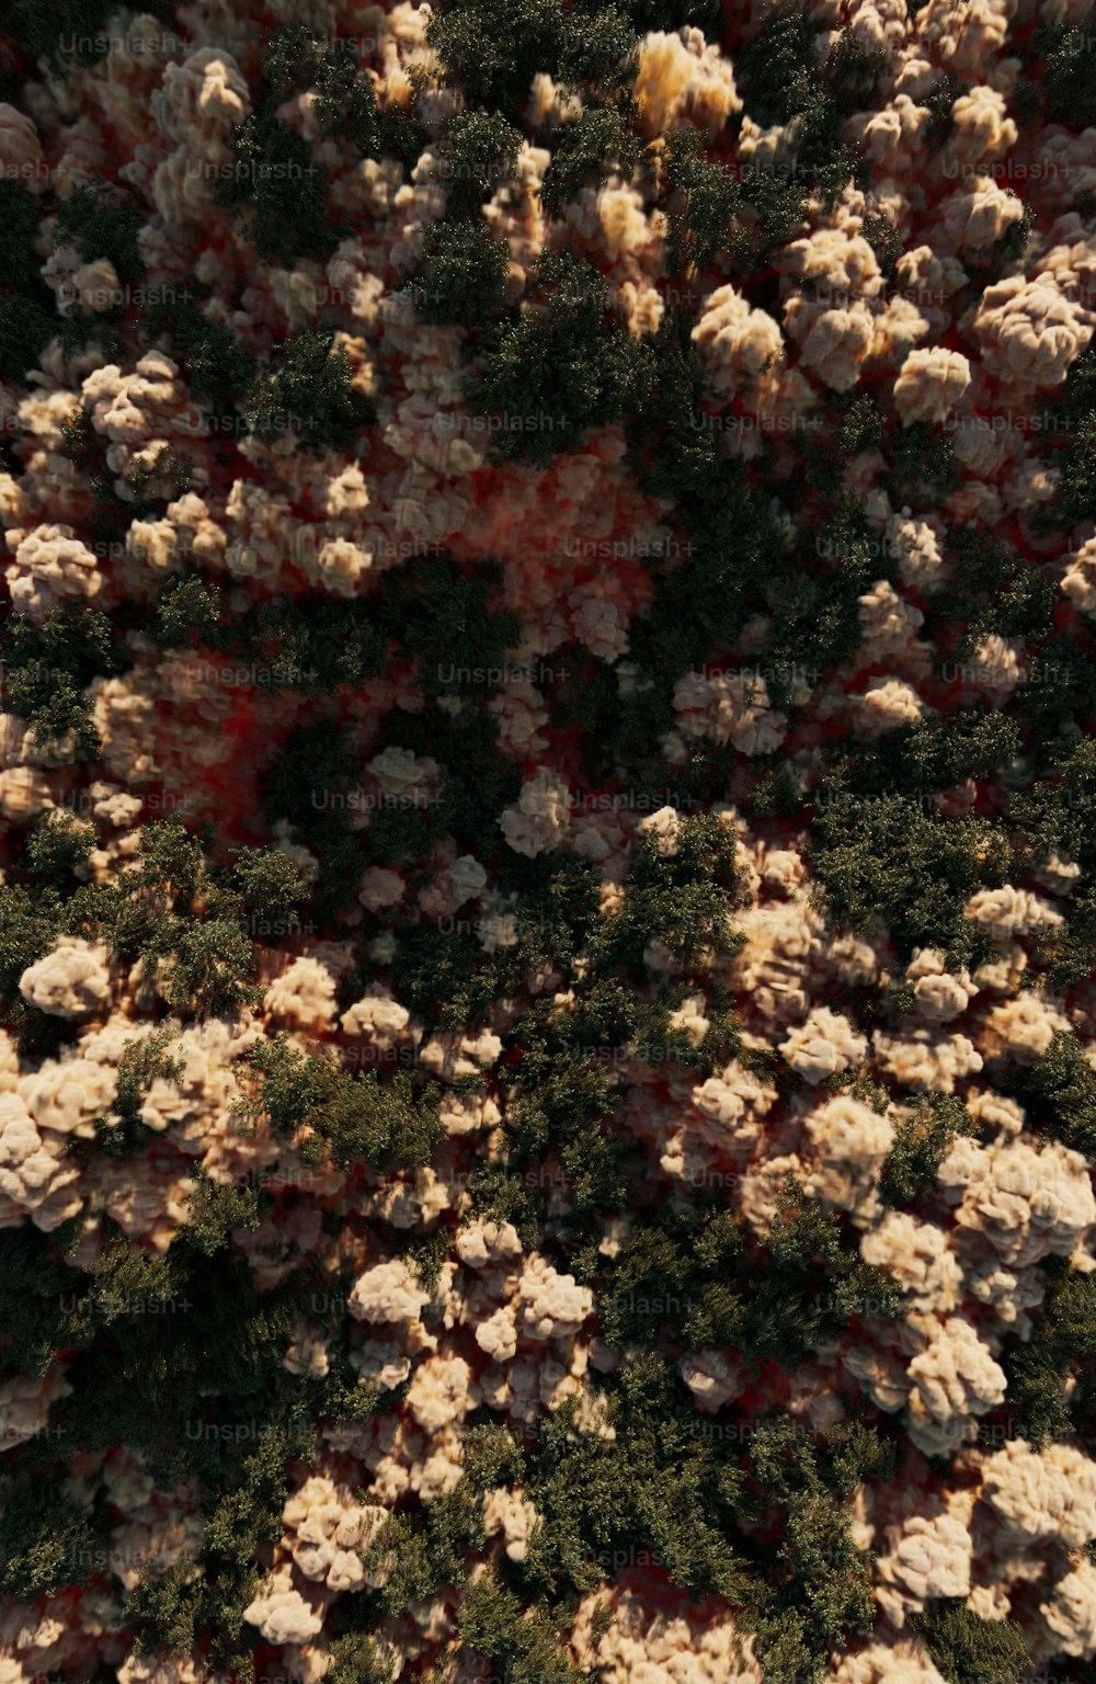
[[[813,872],[840,923],[882,926],[901,955],[914,946],[980,962],[983,938],[963,906],[1005,881],[1008,844],[987,820],[943,818],[902,797],[835,795],[815,805]]]

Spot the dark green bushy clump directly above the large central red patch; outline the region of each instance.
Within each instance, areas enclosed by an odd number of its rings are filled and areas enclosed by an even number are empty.
[[[485,335],[481,372],[468,382],[468,401],[493,418],[498,458],[544,468],[594,428],[643,404],[653,367],[625,322],[608,313],[593,264],[549,253],[534,288],[535,308]]]

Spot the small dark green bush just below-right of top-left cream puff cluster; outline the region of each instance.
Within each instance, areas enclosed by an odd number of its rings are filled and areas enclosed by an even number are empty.
[[[330,258],[338,244],[327,214],[327,170],[308,141],[269,111],[253,111],[236,128],[215,192],[227,210],[247,214],[264,263]]]

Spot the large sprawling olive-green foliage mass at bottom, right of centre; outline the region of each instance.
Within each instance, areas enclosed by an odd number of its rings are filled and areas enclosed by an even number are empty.
[[[702,1421],[673,1367],[635,1349],[604,1403],[611,1445],[574,1433],[564,1404],[525,1452],[542,1517],[522,1563],[527,1593],[588,1591],[621,1563],[667,1573],[741,1610],[766,1679],[820,1677],[828,1650],[874,1618],[847,1502],[860,1479],[889,1477],[886,1440],[855,1420],[820,1442],[781,1416]]]

